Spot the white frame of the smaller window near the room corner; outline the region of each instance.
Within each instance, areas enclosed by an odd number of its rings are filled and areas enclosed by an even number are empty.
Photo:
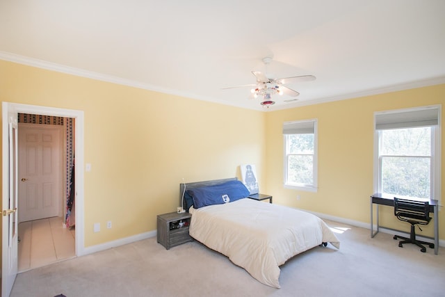
[[[298,133],[295,134],[283,134],[283,168],[284,168],[284,188],[291,188],[296,189],[300,191],[307,191],[307,192],[316,192],[318,191],[318,120],[317,119],[310,119],[310,120],[300,120],[300,121],[293,121],[293,122],[285,122],[284,125],[288,124],[307,124],[309,122],[314,123],[314,154],[313,154],[313,162],[312,162],[312,174],[313,174],[313,183],[312,184],[294,184],[290,183],[288,181],[288,159],[289,155],[287,152],[287,136],[288,135],[298,135]]]

